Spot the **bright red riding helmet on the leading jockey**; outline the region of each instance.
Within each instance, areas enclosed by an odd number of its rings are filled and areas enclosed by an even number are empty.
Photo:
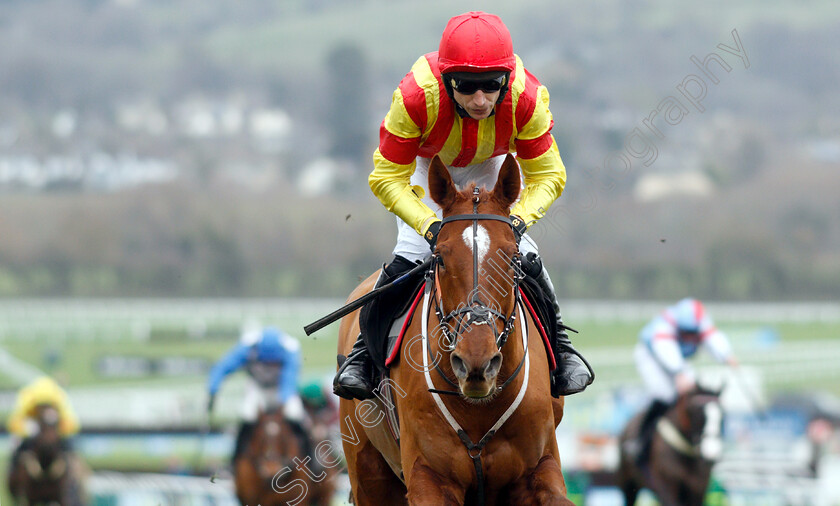
[[[441,74],[447,72],[513,72],[513,41],[501,18],[467,12],[446,24],[438,49]]]

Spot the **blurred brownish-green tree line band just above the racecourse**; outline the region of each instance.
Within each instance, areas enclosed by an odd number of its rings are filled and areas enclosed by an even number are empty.
[[[776,193],[785,171],[731,188],[743,202],[603,195],[584,211],[569,193],[530,234],[563,297],[836,300],[840,204],[817,188],[833,169],[800,167]],[[282,184],[4,196],[0,217],[0,296],[344,297],[389,260],[396,233],[372,196]]]

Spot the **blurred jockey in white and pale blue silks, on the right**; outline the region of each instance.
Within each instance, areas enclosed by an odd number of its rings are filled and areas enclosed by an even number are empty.
[[[694,370],[687,359],[703,345],[719,362],[737,367],[732,346],[726,335],[715,327],[703,304],[685,298],[667,307],[639,333],[636,344],[636,368],[653,398],[642,419],[639,436],[629,450],[639,462],[647,460],[649,443],[656,421],[680,395],[693,390]]]

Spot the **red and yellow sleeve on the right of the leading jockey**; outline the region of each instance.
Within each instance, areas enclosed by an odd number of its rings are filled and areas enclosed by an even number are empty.
[[[517,69],[519,70],[519,69]],[[516,156],[525,189],[511,210],[529,226],[542,218],[566,186],[566,168],[551,135],[554,125],[545,86],[522,68],[524,83],[516,105]]]

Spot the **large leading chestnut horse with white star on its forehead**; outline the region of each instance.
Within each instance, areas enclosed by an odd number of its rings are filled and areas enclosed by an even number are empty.
[[[490,192],[459,192],[440,158],[431,161],[443,222],[424,300],[377,398],[340,401],[355,504],[572,504],[554,432],[563,400],[550,395],[546,349],[518,296],[509,215],[520,185],[510,155]],[[341,322],[339,353],[358,334],[356,311]],[[394,395],[382,396],[385,384]],[[391,402],[399,440],[383,421]]]

